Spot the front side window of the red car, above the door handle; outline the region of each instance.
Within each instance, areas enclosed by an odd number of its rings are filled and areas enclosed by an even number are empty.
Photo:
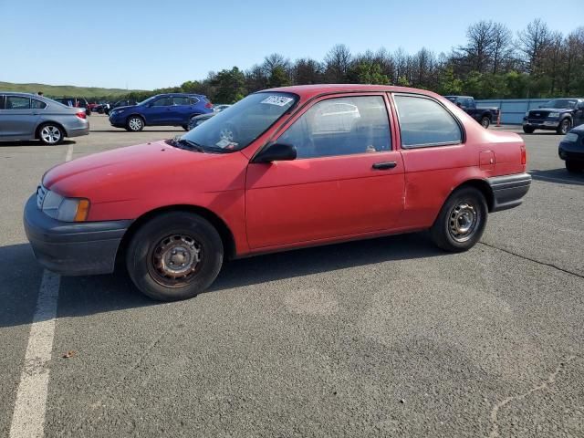
[[[390,151],[385,101],[381,96],[321,100],[277,141],[295,146],[299,159]]]

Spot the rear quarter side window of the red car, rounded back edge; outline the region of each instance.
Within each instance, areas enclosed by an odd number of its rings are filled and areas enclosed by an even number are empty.
[[[398,110],[403,148],[422,148],[463,141],[454,117],[438,102],[416,96],[393,96]]]

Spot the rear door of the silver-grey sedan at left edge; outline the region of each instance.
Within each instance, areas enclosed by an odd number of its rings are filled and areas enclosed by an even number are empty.
[[[0,110],[0,132],[3,137],[33,139],[39,115],[37,110],[31,108],[30,98],[6,94],[4,100],[4,110]]]

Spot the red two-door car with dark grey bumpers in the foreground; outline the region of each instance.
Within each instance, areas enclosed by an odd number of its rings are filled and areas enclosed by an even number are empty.
[[[162,300],[225,258],[430,229],[471,248],[527,193],[526,148],[432,92],[318,85],[249,95],[183,137],[49,170],[26,203],[36,258],[64,275],[125,261]]]

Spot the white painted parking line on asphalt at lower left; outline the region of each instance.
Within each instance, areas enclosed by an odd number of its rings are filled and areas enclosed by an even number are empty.
[[[30,328],[25,366],[16,394],[10,438],[42,437],[47,409],[48,362],[51,360],[60,277],[50,271],[43,279]]]

